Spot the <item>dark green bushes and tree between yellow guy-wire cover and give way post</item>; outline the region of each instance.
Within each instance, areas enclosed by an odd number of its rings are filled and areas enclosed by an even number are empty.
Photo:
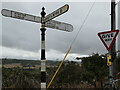
[[[89,57],[78,58],[77,62],[69,62],[63,65],[51,88],[98,88],[103,87],[105,77],[108,75],[108,67],[104,55],[93,54]]]

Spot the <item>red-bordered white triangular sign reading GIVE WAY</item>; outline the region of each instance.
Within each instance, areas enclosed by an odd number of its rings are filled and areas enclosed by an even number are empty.
[[[103,42],[104,46],[108,51],[112,48],[112,45],[114,44],[114,41],[118,33],[119,30],[112,30],[112,31],[98,33],[99,38],[101,39],[101,41]]]

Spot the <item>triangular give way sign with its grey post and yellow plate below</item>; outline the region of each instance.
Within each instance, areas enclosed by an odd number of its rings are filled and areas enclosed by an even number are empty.
[[[113,72],[112,72],[112,58],[110,55],[110,49],[112,48],[113,44],[115,43],[115,39],[119,33],[119,30],[112,30],[106,32],[98,33],[99,38],[103,42],[104,46],[108,50],[107,54],[107,65],[109,66],[109,85],[113,82]]]

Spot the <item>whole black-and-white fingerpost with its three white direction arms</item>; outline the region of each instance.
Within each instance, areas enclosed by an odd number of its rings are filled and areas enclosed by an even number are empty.
[[[73,26],[67,23],[54,21],[54,19],[57,16],[62,15],[63,13],[67,12],[69,9],[69,5],[64,5],[60,7],[59,9],[55,10],[54,12],[48,14],[45,16],[45,8],[42,8],[41,16],[34,16],[29,15],[26,13],[16,12],[12,10],[2,9],[1,13],[3,16],[11,17],[15,19],[21,19],[36,23],[41,23],[41,90],[46,90],[46,58],[45,58],[45,31],[46,28],[53,28],[58,30],[63,30],[67,32],[73,31]]]

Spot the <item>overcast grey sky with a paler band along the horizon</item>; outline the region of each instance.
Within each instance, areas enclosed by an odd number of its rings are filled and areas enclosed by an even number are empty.
[[[72,32],[46,28],[46,59],[63,59],[65,53],[78,34],[67,59],[84,57],[93,53],[105,54],[106,48],[100,41],[97,33],[109,31],[110,23],[110,2],[95,2],[87,20],[80,30],[94,2],[82,1],[59,1],[59,2],[0,2],[1,9],[14,10],[34,16],[40,16],[41,8],[45,7],[46,15],[62,7],[69,5],[69,10],[54,18],[53,20],[69,23],[73,26]],[[19,59],[40,59],[41,32],[39,23],[24,21],[1,15],[0,18],[1,57]],[[79,32],[80,30],[80,32]],[[79,33],[78,33],[79,32]]]

